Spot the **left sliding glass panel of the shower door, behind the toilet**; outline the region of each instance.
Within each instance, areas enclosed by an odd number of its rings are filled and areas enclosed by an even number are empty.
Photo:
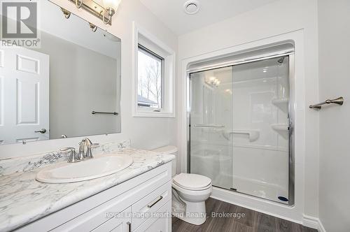
[[[232,67],[190,74],[190,171],[232,187]],[[227,133],[227,134],[226,134]]]

